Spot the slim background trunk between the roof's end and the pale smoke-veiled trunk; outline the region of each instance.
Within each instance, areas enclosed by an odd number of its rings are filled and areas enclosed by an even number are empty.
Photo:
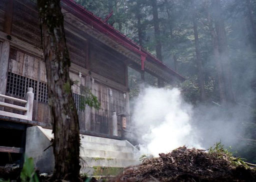
[[[194,4],[192,3],[194,6]],[[194,46],[195,46],[195,54],[196,54],[196,66],[197,66],[197,75],[198,75],[198,83],[200,89],[200,100],[205,101],[205,89],[204,89],[204,79],[202,72],[202,59],[201,53],[199,50],[199,40],[198,40],[198,30],[197,30],[197,22],[196,22],[196,8],[193,7],[193,29],[194,29]]]

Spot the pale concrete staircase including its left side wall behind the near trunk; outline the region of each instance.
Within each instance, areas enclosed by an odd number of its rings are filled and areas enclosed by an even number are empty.
[[[51,172],[54,166],[52,147],[43,151],[53,137],[50,129],[27,128],[25,153],[34,158],[40,172]],[[80,135],[81,172],[89,176],[112,176],[124,167],[138,164],[138,150],[127,140]],[[37,143],[37,144],[36,144]],[[36,145],[35,145],[36,144]],[[45,164],[46,168],[45,168]],[[49,166],[49,167],[47,167]]]

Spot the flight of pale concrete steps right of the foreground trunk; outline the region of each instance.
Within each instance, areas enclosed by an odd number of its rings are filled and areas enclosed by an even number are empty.
[[[87,167],[82,172],[93,176],[116,175],[123,167],[138,163],[134,156],[137,151],[127,140],[83,135],[80,157]]]

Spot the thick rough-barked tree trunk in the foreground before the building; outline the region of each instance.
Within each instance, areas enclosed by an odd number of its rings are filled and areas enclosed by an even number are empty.
[[[78,181],[79,123],[72,98],[70,66],[60,0],[37,0],[46,64],[48,104],[53,123],[53,178]]]

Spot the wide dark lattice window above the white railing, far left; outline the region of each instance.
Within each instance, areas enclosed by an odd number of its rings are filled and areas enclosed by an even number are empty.
[[[6,93],[25,97],[28,87],[33,88],[34,99],[36,99],[37,81],[12,72],[8,72]]]

